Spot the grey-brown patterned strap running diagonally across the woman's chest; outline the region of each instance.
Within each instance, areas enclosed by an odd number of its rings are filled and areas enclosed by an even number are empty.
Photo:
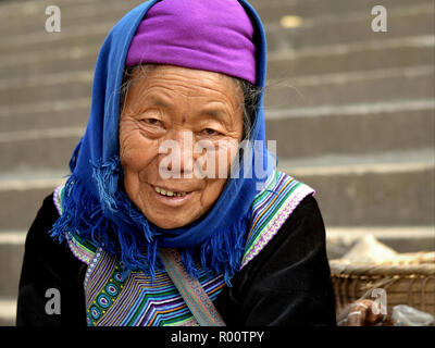
[[[175,249],[160,249],[164,268],[200,326],[225,326],[201,284],[186,272]]]

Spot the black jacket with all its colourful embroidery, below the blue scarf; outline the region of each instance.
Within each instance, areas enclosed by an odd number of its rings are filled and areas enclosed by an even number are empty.
[[[233,286],[207,270],[200,270],[199,282],[227,325],[335,325],[324,225],[312,190],[283,173],[276,172],[274,181],[253,203]],[[144,273],[123,272],[120,260],[77,235],[54,243],[47,232],[60,212],[58,189],[46,198],[27,236],[18,325],[194,322],[165,272],[157,272],[152,283]],[[48,288],[62,294],[61,315],[45,311]]]

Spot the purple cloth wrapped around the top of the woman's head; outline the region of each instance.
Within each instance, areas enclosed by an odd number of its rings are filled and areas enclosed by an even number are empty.
[[[170,64],[256,84],[253,32],[237,0],[163,0],[140,23],[126,66]]]

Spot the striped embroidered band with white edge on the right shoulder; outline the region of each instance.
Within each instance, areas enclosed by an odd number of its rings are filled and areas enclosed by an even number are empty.
[[[253,202],[253,223],[247,237],[240,270],[276,235],[302,199],[314,194],[314,189],[308,185],[284,173],[275,172],[274,179]]]

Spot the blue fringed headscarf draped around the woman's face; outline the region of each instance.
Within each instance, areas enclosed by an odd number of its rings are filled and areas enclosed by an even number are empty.
[[[54,224],[51,235],[62,240],[71,233],[79,233],[82,238],[89,238],[107,251],[119,253],[126,266],[141,269],[151,275],[156,266],[161,266],[158,248],[178,248],[187,271],[194,275],[194,253],[199,252],[197,256],[200,256],[202,266],[223,273],[229,284],[240,265],[258,184],[264,183],[273,171],[268,165],[270,156],[265,145],[263,169],[268,174],[257,177],[251,170],[251,177],[245,178],[241,164],[238,178],[228,179],[212,210],[182,228],[162,229],[153,226],[129,201],[123,189],[117,129],[120,87],[133,36],[147,10],[156,2],[145,2],[127,13],[101,47],[95,71],[89,122],[71,159],[72,174],[66,182],[62,202],[64,213]],[[244,0],[239,2],[256,27],[257,85],[264,87],[264,29],[251,5]],[[251,139],[263,140],[263,144],[265,140],[263,96],[259,101]],[[253,169],[253,156],[249,163]]]

